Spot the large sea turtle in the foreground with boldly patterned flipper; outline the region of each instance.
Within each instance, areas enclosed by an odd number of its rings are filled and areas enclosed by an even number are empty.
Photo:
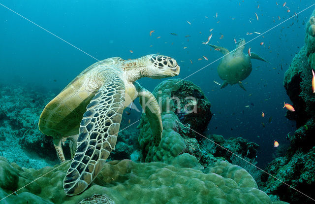
[[[162,135],[158,102],[137,79],[178,75],[175,59],[146,55],[134,60],[108,58],[86,68],[44,108],[39,130],[54,138],[60,161],[65,161],[61,142],[70,137],[73,160],[63,179],[64,192],[83,192],[104,166],[115,148],[123,110],[140,98],[152,129],[154,145]]]

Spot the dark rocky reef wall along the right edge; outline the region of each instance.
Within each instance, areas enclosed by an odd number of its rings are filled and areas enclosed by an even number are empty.
[[[295,108],[295,112],[287,112],[286,117],[295,120],[298,129],[287,135],[290,147],[286,155],[267,165],[266,171],[279,180],[266,173],[261,175],[267,193],[291,204],[314,203],[315,94],[312,91],[312,69],[315,69],[315,10],[306,24],[305,44],[284,74],[284,88]]]

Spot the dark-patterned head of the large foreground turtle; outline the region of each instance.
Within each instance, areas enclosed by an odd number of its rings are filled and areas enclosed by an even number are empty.
[[[150,78],[166,78],[177,76],[180,67],[176,60],[164,55],[147,55],[144,56],[147,61],[146,76]]]

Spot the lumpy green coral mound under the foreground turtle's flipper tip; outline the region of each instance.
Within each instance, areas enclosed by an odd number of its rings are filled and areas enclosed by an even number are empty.
[[[219,161],[200,170],[196,158],[189,154],[175,158],[172,165],[111,161],[105,164],[94,185],[71,197],[64,194],[62,186],[70,165],[67,161],[59,167],[40,170],[21,169],[3,157],[0,157],[0,163],[0,199],[13,193],[3,200],[6,204],[72,204],[83,202],[83,199],[88,203],[100,197],[116,204],[204,201],[212,204],[286,204],[272,202],[267,194],[257,189],[252,176],[241,167]],[[18,190],[31,181],[30,185]],[[95,193],[102,195],[95,197]]]

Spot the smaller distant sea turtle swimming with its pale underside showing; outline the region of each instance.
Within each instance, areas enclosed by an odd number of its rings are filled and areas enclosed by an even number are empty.
[[[224,80],[223,84],[221,85],[221,89],[227,86],[227,84],[233,85],[238,83],[240,87],[246,91],[241,81],[246,79],[252,72],[251,59],[267,62],[262,57],[259,57],[253,52],[251,52],[251,56],[248,54],[245,55],[243,53],[245,48],[245,39],[243,38],[238,40],[236,49],[232,52],[229,52],[224,47],[211,44],[209,45],[216,50],[219,50],[224,55],[218,66],[219,76],[222,80]]]

